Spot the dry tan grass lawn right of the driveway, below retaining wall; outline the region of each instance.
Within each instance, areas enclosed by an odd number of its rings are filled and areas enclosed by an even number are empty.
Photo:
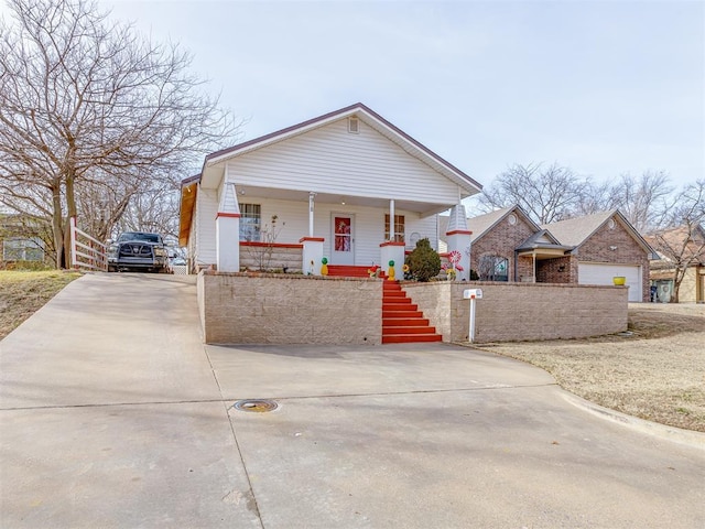
[[[587,400],[705,432],[705,305],[629,305],[631,336],[488,344],[528,361]]]

